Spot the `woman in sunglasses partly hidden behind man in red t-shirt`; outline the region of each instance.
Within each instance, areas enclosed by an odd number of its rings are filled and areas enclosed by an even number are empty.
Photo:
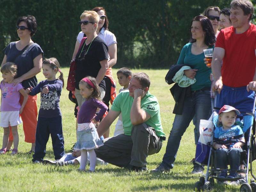
[[[220,31],[218,30],[220,26],[220,8],[217,6],[208,7],[204,10],[204,13],[202,15],[204,15],[211,21],[214,34],[217,37],[220,33]]]

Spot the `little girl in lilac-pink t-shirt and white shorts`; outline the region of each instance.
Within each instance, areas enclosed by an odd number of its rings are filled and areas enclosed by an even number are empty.
[[[21,123],[20,114],[28,100],[28,94],[23,89],[22,85],[13,84],[13,80],[17,75],[17,66],[14,63],[7,62],[1,67],[3,81],[0,84],[1,89],[1,115],[0,126],[4,128],[3,146],[0,149],[0,155],[6,153],[6,146],[9,138],[9,125],[12,128],[13,146],[12,155],[18,153],[19,134],[18,124]],[[23,95],[24,100],[20,106],[20,94]]]

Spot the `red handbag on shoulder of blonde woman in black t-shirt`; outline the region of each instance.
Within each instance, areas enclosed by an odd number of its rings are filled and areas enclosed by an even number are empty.
[[[79,52],[82,44],[84,44],[85,40],[86,40],[86,37],[84,37],[81,40],[78,52]],[[76,60],[73,61],[72,63],[70,63],[69,73],[68,73],[68,82],[67,82],[67,90],[68,91],[75,91],[75,89],[76,89],[76,78],[75,77],[76,77]]]

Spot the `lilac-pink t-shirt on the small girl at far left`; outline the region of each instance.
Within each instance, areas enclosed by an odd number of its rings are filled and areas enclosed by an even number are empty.
[[[19,83],[13,86],[12,83],[1,83],[2,91],[1,111],[19,111],[20,110],[20,89],[23,89]]]

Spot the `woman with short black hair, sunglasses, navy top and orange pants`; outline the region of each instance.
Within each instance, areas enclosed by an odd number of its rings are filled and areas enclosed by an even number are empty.
[[[4,59],[2,66],[6,62],[13,62],[18,67],[18,74],[13,81],[16,85],[21,83],[26,90],[30,87],[36,87],[37,79],[36,74],[41,71],[43,50],[41,47],[34,43],[31,37],[36,33],[36,18],[28,15],[20,17],[16,23],[17,34],[20,38],[19,41],[11,42],[4,49]],[[22,103],[23,97],[20,96],[20,103]],[[23,130],[25,134],[25,142],[32,143],[29,153],[35,151],[35,135],[37,124],[37,106],[36,96],[28,95],[28,101],[21,113],[21,119],[23,121]],[[9,143],[7,150],[12,146],[12,135],[9,136]]]

